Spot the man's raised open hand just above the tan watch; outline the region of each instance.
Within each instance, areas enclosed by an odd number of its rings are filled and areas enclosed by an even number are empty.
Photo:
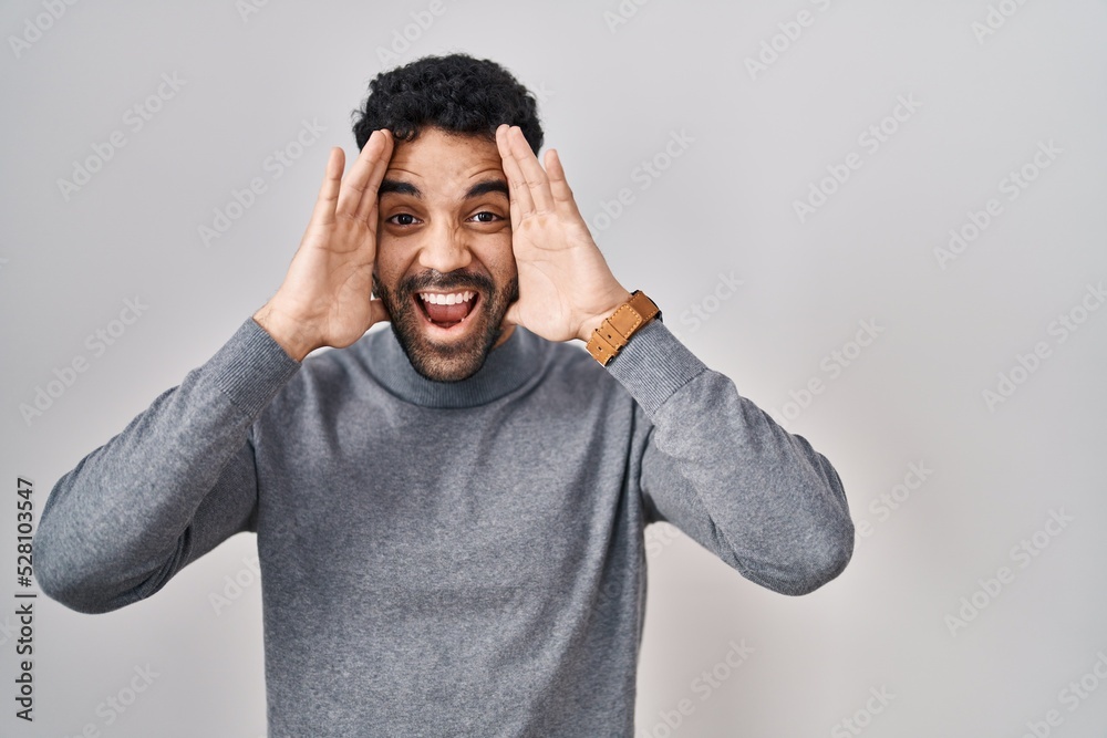
[[[630,300],[611,273],[577,209],[557,150],[546,168],[518,126],[496,129],[511,193],[511,247],[519,299],[504,322],[549,341],[588,341],[592,331]]]

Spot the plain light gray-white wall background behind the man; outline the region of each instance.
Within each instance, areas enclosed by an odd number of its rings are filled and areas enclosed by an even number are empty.
[[[614,0],[443,0],[438,15],[430,2],[242,4],[0,10],[10,603],[17,477],[41,510],[62,474],[206,361],[279,285],[328,148],[355,152],[350,113],[369,80],[465,51],[539,92],[547,146],[615,276],[834,462],[868,533],[838,580],[793,599],[652,528],[638,736],[1022,736],[1051,709],[1049,735],[1103,735],[1107,310],[1088,290],[1107,280],[1107,3],[628,0],[624,17]],[[788,25],[800,11],[808,24]],[[758,54],[768,63],[751,71]],[[134,131],[127,110],[163,74],[183,86]],[[918,106],[897,121],[901,96]],[[267,157],[302,121],[325,133],[273,178]],[[888,132],[876,150],[859,138],[873,125]],[[126,145],[66,199],[59,180],[114,131]],[[666,159],[674,132],[691,143]],[[824,183],[832,194],[801,222],[795,202],[851,153],[860,167]],[[664,170],[643,178],[655,157]],[[1024,165],[1033,181],[1011,189]],[[265,194],[206,246],[198,228],[254,177]],[[633,201],[600,217],[621,188]],[[972,235],[990,199],[1002,211],[943,261],[935,249],[951,229]],[[741,287],[720,289],[721,274]],[[86,336],[136,297],[142,318],[95,355]],[[1062,315],[1083,322],[1062,330]],[[857,351],[861,321],[880,332]],[[1048,356],[1013,372],[1039,342]],[[79,357],[87,370],[24,418]],[[1005,397],[1001,373],[1020,381]],[[813,378],[821,391],[805,396]],[[921,485],[912,464],[930,470]],[[897,489],[906,480],[914,489]],[[892,493],[896,509],[880,502]],[[1052,512],[1072,520],[1017,554]],[[0,735],[262,736],[254,555],[237,536],[105,615],[39,599],[33,726],[13,717],[14,604],[0,606]],[[1001,567],[1011,576],[989,594]],[[247,585],[217,613],[211,595],[236,575]],[[984,606],[970,620],[962,597]],[[743,641],[746,661],[696,689]],[[157,677],[108,725],[97,705],[146,665]],[[890,699],[870,699],[881,690]],[[694,709],[670,728],[682,699]]]

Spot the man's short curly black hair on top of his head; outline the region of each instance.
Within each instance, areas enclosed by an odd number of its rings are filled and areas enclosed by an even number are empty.
[[[523,128],[538,154],[542,126],[534,95],[489,59],[449,54],[424,56],[377,74],[361,108],[353,112],[353,135],[359,149],[377,128],[387,128],[397,141],[413,141],[426,126],[496,141],[503,123]]]

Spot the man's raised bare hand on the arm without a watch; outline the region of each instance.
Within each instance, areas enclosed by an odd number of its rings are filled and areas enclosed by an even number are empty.
[[[372,300],[377,189],[392,158],[389,131],[374,131],[342,177],[345,154],[331,149],[311,221],[284,281],[254,320],[302,361],[320,346],[341,349],[389,320]]]

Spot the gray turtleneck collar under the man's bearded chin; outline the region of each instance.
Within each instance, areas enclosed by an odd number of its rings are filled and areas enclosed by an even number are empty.
[[[433,382],[412,366],[392,328],[376,331],[361,342],[369,373],[385,389],[421,407],[476,407],[519,388],[538,374],[547,342],[516,325],[499,346],[489,352],[484,366],[461,382]]]

